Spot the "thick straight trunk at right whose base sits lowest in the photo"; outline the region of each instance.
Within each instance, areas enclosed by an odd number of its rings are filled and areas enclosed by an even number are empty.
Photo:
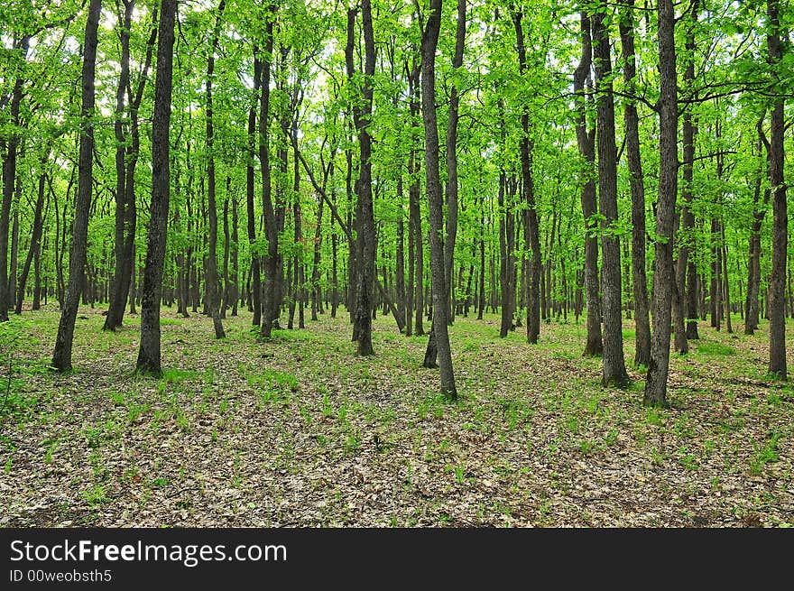
[[[676,73],[676,16],[673,0],[659,0],[659,200],[656,206],[655,255],[651,315],[651,363],[643,400],[652,406],[668,406],[670,308],[672,304],[673,225],[678,196],[678,79]]]

